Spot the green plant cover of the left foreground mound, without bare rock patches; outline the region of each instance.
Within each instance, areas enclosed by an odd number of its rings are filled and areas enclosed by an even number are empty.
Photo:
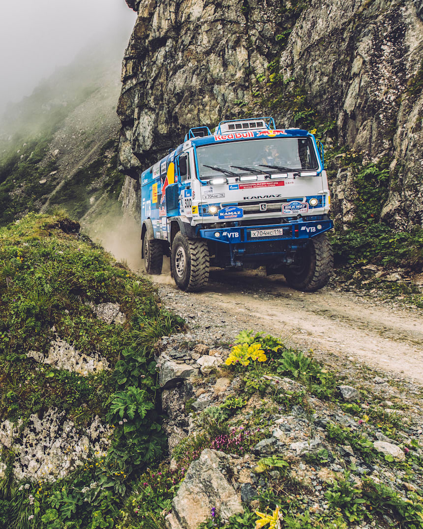
[[[84,427],[98,414],[116,426],[112,448],[101,462],[91,454],[92,460],[67,480],[19,491],[11,479],[14,451],[3,447],[2,527],[64,527],[53,522],[65,521],[68,508],[73,508],[75,522],[67,527],[91,527],[102,502],[105,519],[113,516],[133,476],[163,445],[149,356],[156,337],[170,333],[180,321],[159,308],[150,282],[75,233],[78,227],[64,216],[30,214],[0,229],[0,419],[22,418],[25,424],[32,413],[57,407]],[[98,320],[90,302],[118,303],[126,323]],[[82,377],[27,358],[31,350],[48,352],[53,326],[62,340],[88,355],[95,351],[115,370]],[[69,499],[71,490],[93,483],[102,484],[91,489],[99,503],[80,501],[75,514],[80,498]],[[51,510],[54,494],[56,514]]]

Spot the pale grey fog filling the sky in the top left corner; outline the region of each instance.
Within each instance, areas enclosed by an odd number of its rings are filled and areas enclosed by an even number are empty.
[[[0,116],[100,35],[128,40],[135,18],[125,0],[0,0]]]

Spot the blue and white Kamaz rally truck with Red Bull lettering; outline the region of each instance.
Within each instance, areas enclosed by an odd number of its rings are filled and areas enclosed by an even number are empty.
[[[209,268],[258,268],[315,291],[327,284],[333,253],[323,145],[272,117],[189,130],[185,141],[141,174],[142,257],[162,271],[170,257],[177,286],[198,291]]]

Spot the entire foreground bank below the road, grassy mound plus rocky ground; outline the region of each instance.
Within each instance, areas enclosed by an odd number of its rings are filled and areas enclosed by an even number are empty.
[[[183,326],[78,229],[0,229],[2,527],[423,527],[419,386]]]

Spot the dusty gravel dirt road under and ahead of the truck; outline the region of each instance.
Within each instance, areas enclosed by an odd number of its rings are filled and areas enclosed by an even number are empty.
[[[212,270],[208,288],[195,294],[182,293],[167,273],[152,277],[164,304],[191,324],[211,317],[233,335],[242,329],[264,331],[319,356],[327,353],[339,366],[360,361],[423,384],[420,310],[395,308],[333,287],[301,293],[287,287],[283,276],[265,277],[261,270]]]

